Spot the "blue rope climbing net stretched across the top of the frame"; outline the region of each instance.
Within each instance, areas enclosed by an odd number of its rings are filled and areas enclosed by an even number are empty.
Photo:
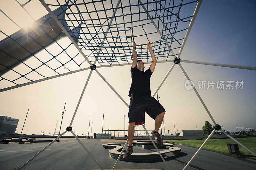
[[[37,20],[30,15],[30,8],[44,8],[42,4],[16,2],[34,22],[22,28],[0,8],[1,17],[20,27],[12,35],[0,27],[1,37],[5,37],[0,41],[0,92],[89,67],[50,14]],[[98,66],[131,63],[133,41],[138,59],[144,62],[152,61],[149,42],[157,61],[173,59],[170,51],[178,54],[197,4],[189,0],[142,0],[142,4],[137,0],[120,4],[117,0],[49,2],[47,5],[79,48],[92,63],[96,59]]]

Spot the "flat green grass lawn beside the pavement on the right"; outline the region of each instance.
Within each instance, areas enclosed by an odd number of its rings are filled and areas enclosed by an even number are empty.
[[[244,137],[244,138],[236,138],[239,142],[250,148],[253,152],[256,152],[256,137]],[[166,140],[167,141],[167,140]],[[170,142],[175,142],[177,144],[183,144],[187,146],[192,146],[196,148],[200,148],[200,146],[204,143],[205,139],[196,139],[196,140],[168,140]],[[229,154],[227,144],[237,144],[232,139],[210,139],[203,147],[203,149],[210,150],[210,151],[216,151],[221,153]],[[240,152],[240,157],[243,158],[249,158],[249,159],[255,159],[256,156],[254,156],[251,152],[247,151],[238,144]],[[238,154],[230,154],[231,156],[239,157]]]

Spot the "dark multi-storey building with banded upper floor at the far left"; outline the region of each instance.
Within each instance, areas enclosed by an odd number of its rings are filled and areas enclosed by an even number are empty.
[[[0,116],[0,135],[14,135],[19,119],[8,116]]]

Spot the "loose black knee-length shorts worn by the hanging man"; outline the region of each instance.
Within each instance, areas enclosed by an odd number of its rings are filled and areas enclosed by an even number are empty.
[[[164,107],[152,96],[132,95],[129,106],[129,123],[131,122],[145,122],[145,111],[152,118],[162,112],[165,112]],[[140,124],[143,124],[140,123]],[[138,124],[139,125],[139,124]]]

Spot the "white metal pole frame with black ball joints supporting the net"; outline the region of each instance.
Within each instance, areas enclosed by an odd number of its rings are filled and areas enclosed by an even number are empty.
[[[85,54],[83,53],[83,51],[78,47],[78,45],[76,44],[76,42],[71,38],[71,36],[70,36],[69,33],[67,32],[67,30],[60,24],[59,20],[56,18],[56,16],[54,16],[53,12],[50,10],[50,8],[47,6],[47,4],[45,4],[44,0],[39,0],[39,1],[40,1],[41,4],[45,7],[45,9],[50,13],[50,15],[52,16],[52,18],[53,18],[53,19],[56,21],[56,23],[60,26],[60,28],[61,28],[61,29],[63,30],[63,32],[67,35],[67,37],[70,39],[70,41],[72,41],[72,43],[76,46],[76,48],[78,49],[78,51],[84,56],[85,60],[92,66],[92,63],[88,60],[88,58],[85,56]],[[118,1],[117,5],[116,5],[116,9],[115,9],[115,11],[114,11],[113,16],[114,16],[115,13],[116,13],[116,10],[117,10],[117,7],[119,6],[119,3],[120,3],[120,0]],[[145,12],[147,12],[146,8],[144,7],[144,5],[141,3],[140,0],[139,0],[139,3],[140,3],[140,5],[141,5],[141,7],[143,8],[143,10],[144,10]],[[186,42],[186,40],[187,40],[187,38],[188,38],[188,34],[189,34],[189,32],[190,32],[190,30],[191,30],[191,27],[192,27],[192,25],[193,25],[193,23],[194,23],[194,20],[195,20],[195,18],[196,18],[196,14],[197,14],[197,12],[198,12],[198,10],[199,10],[199,7],[200,7],[201,3],[202,3],[202,0],[199,0],[198,3],[197,3],[197,5],[196,5],[195,12],[194,12],[194,14],[193,14],[193,17],[191,18],[191,21],[190,21],[190,24],[189,24],[189,27],[188,27],[186,36],[185,36],[184,41],[183,41],[183,43],[182,43],[182,45],[181,45],[180,52],[178,53],[177,59],[179,59],[179,57],[180,57],[180,54],[181,54],[182,49],[183,49],[183,47],[184,47],[184,45],[185,45],[185,42]],[[151,18],[148,12],[147,12],[147,15],[148,15],[149,18]],[[155,22],[153,21],[153,19],[150,19],[150,20],[151,20],[151,23],[152,23],[152,24],[154,25],[154,27],[156,28],[156,30],[157,30],[157,32],[159,33],[159,35],[162,37],[162,34],[161,34],[160,30],[157,28],[157,26],[156,26]],[[111,23],[112,21],[113,21],[113,19],[111,19],[110,23]],[[109,27],[108,27],[108,30],[109,30]],[[108,33],[108,31],[105,33],[105,37],[106,37],[107,33]],[[105,41],[105,39],[103,39],[103,42],[104,42],[104,41]],[[102,43],[103,43],[103,42],[102,42]],[[166,45],[167,45],[168,47],[170,47],[166,41],[164,41],[164,42],[166,43]],[[96,57],[96,59],[95,59],[95,61],[94,61],[94,64],[96,63],[97,58],[98,58],[98,56],[99,56],[99,53],[100,53],[100,51],[101,51],[101,48],[102,48],[102,46],[103,46],[102,43],[101,43],[100,50],[98,51],[97,57]],[[171,49],[170,49],[170,52],[172,53],[173,57],[175,58],[176,56],[174,55],[174,53],[172,52]],[[173,62],[173,60],[158,61],[158,63],[164,63],[164,62]],[[209,62],[196,62],[196,61],[188,61],[188,60],[180,60],[180,62],[185,62],[185,63],[197,63],[197,64],[205,64],[205,65],[214,65],[214,66],[221,66],[221,67],[232,67],[232,68],[240,68],[240,69],[248,69],[248,70],[256,70],[256,67],[239,66],[239,65],[230,65],[230,64],[209,63]],[[147,62],[147,63],[151,63],[151,62]],[[111,66],[122,66],[122,65],[131,65],[131,63],[115,64],[115,65],[106,65],[106,66],[97,66],[97,68],[100,68],[100,67],[111,67]],[[158,86],[158,88],[156,89],[156,92],[157,92],[157,91],[160,89],[160,87],[163,85],[164,81],[165,81],[166,78],[169,76],[170,72],[172,71],[172,69],[173,69],[173,67],[174,67],[175,65],[176,65],[175,63],[172,64],[172,67],[171,67],[170,70],[167,72],[166,76],[164,77],[164,79],[162,80],[162,82],[160,83],[160,85]],[[185,72],[185,70],[184,70],[183,67],[181,66],[181,64],[179,63],[178,65],[180,66],[180,69],[182,70],[182,72],[184,73],[184,75],[186,76],[186,78],[187,78],[188,80],[190,80],[189,77],[188,77],[188,75],[187,75],[187,73]],[[33,84],[33,83],[36,83],[36,82],[40,82],[40,81],[44,81],[44,80],[48,80],[48,79],[52,79],[52,78],[64,76],[64,75],[67,75],[67,74],[72,74],[72,73],[75,73],[75,72],[79,72],[79,71],[83,71],[83,70],[88,70],[88,69],[90,69],[90,67],[85,68],[85,69],[82,69],[82,70],[76,70],[76,71],[72,71],[72,72],[69,72],[69,73],[57,75],[57,76],[52,76],[52,77],[49,77],[49,78],[44,78],[44,79],[41,79],[41,80],[37,80],[37,81],[35,81],[35,82],[25,83],[25,84],[19,85],[19,86],[8,87],[8,88],[5,88],[5,89],[1,90],[0,92],[6,91],[6,90],[10,90],[10,89],[13,89],[13,88],[17,88],[17,87],[20,87],[20,86],[29,85],[29,84]],[[124,102],[124,104],[125,104],[127,107],[129,107],[129,105],[128,105],[128,104],[124,101],[124,99],[116,92],[116,90],[108,83],[108,81],[100,74],[100,72],[99,72],[97,69],[96,69],[95,71],[96,71],[96,72],[98,73],[98,75],[108,84],[108,86],[116,93],[116,95]],[[75,115],[76,115],[76,111],[77,111],[77,109],[78,109],[78,107],[79,107],[79,104],[80,104],[80,102],[81,102],[81,99],[82,99],[82,97],[83,97],[84,91],[85,91],[85,89],[86,89],[86,86],[87,86],[87,84],[88,84],[88,82],[89,82],[89,79],[90,79],[91,75],[92,75],[92,70],[90,71],[89,76],[88,76],[88,78],[87,78],[87,80],[86,80],[86,83],[85,83],[85,85],[84,85],[84,89],[83,89],[83,91],[82,91],[82,93],[81,93],[81,96],[80,96],[80,99],[79,99],[79,101],[78,101],[78,103],[77,103],[76,110],[75,110],[75,112],[74,112],[74,115],[73,115],[73,117],[72,117],[72,120],[71,120],[71,122],[70,122],[69,127],[71,127],[71,125],[72,125],[72,123],[73,123],[73,120],[74,120]],[[201,103],[203,104],[203,106],[204,106],[206,112],[207,112],[208,115],[210,116],[212,122],[214,123],[214,125],[217,125],[216,122],[214,121],[212,115],[210,114],[209,110],[208,110],[207,107],[205,106],[204,101],[202,100],[202,98],[200,97],[199,93],[197,92],[196,88],[193,87],[193,89],[194,89],[194,91],[196,92],[197,97],[199,98],[199,100],[200,100]],[[156,92],[153,94],[153,97],[156,95]],[[159,153],[160,157],[162,158],[162,160],[163,160],[164,164],[166,165],[167,169],[169,169],[169,167],[167,166],[167,164],[166,164],[166,162],[165,162],[165,160],[164,160],[162,154],[161,154],[161,153],[159,152],[159,150],[157,149],[156,144],[153,142],[153,140],[152,140],[152,138],[150,137],[148,131],[147,131],[146,128],[145,128],[145,126],[144,126],[143,124],[142,124],[142,126],[143,126],[143,128],[145,129],[145,131],[147,132],[148,137],[150,138],[151,142],[152,142],[153,145],[155,146],[157,152]],[[233,137],[231,137],[230,135],[228,135],[224,130],[220,129],[220,131],[222,131],[223,133],[225,133],[228,137],[230,137],[231,139],[233,139],[235,142],[237,142],[238,144],[240,144],[241,146],[243,146],[245,149],[247,149],[249,152],[251,152],[252,154],[254,154],[254,155],[256,156],[256,153],[255,153],[255,152],[253,152],[252,150],[250,150],[249,148],[247,148],[246,146],[244,146],[243,144],[241,144],[240,142],[238,142],[235,138],[233,138]],[[53,144],[57,139],[59,139],[59,138],[60,138],[62,135],[64,135],[66,132],[67,132],[67,130],[64,131],[61,135],[59,135],[56,139],[54,139],[50,144],[48,144],[47,146],[45,146],[44,149],[42,149],[42,150],[41,150],[40,152],[38,152],[34,157],[32,157],[31,159],[29,159],[29,160],[28,160],[23,166],[21,166],[19,169],[22,169],[24,166],[26,166],[29,162],[31,162],[34,158],[36,158],[40,153],[42,153],[46,148],[48,148],[51,144]],[[93,159],[93,161],[100,167],[100,169],[103,169],[103,168],[99,165],[99,163],[97,162],[97,160],[96,160],[96,159],[91,155],[91,153],[86,149],[86,147],[84,146],[84,144],[82,144],[82,142],[76,137],[76,135],[74,134],[74,132],[73,132],[72,130],[71,130],[70,132],[73,134],[73,136],[76,138],[76,140],[82,145],[82,147],[85,149],[85,151],[91,156],[91,158]],[[202,144],[202,146],[198,149],[198,151],[195,153],[195,155],[190,159],[190,161],[189,161],[188,164],[184,167],[184,169],[186,169],[186,168],[189,166],[189,164],[193,161],[193,159],[196,157],[196,155],[200,152],[200,150],[203,148],[203,146],[206,144],[206,142],[212,137],[212,135],[213,135],[214,132],[215,132],[215,130],[213,130],[212,133],[210,134],[210,136],[204,141],[204,143]],[[116,160],[116,163],[115,163],[115,165],[113,166],[113,169],[115,169],[115,166],[116,166],[118,160],[120,159],[120,157],[121,157],[121,155],[122,155],[122,153],[123,153],[123,151],[124,151],[124,148],[125,148],[125,146],[126,146],[127,143],[128,143],[128,139],[127,139],[126,143],[124,144],[124,147],[123,147],[123,149],[122,149],[122,152],[121,152],[121,154],[119,155],[118,159]]]

